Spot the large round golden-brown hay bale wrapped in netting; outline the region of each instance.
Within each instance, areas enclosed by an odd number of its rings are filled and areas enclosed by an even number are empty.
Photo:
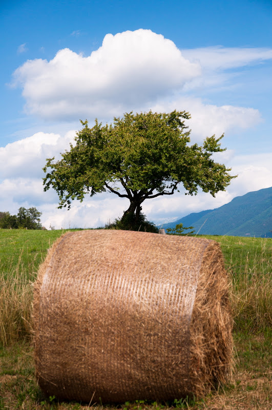
[[[153,233],[67,233],[40,266],[35,366],[47,395],[93,402],[201,397],[231,372],[219,244]]]

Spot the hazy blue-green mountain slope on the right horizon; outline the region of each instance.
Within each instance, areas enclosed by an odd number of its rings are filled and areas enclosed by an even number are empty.
[[[272,187],[237,196],[222,207],[192,213],[160,228],[175,228],[178,223],[205,235],[272,238]]]

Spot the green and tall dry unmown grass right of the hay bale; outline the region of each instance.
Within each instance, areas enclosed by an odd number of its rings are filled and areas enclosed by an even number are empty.
[[[231,274],[234,329],[272,327],[272,239],[206,236],[217,240]]]

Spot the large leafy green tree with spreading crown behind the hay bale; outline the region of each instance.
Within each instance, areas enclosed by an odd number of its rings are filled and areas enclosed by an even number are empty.
[[[221,152],[219,138],[207,137],[203,146],[189,146],[190,130],[185,126],[189,113],[126,113],[114,118],[113,125],[93,128],[81,121],[75,145],[61,154],[59,161],[47,158],[44,190],[51,186],[59,196],[59,207],[71,207],[73,199],[83,200],[107,190],[128,198],[124,215],[139,219],[146,199],[173,195],[182,183],[186,194],[197,194],[198,187],[213,196],[224,191],[234,176],[212,155]],[[48,168],[51,171],[48,172]]]

